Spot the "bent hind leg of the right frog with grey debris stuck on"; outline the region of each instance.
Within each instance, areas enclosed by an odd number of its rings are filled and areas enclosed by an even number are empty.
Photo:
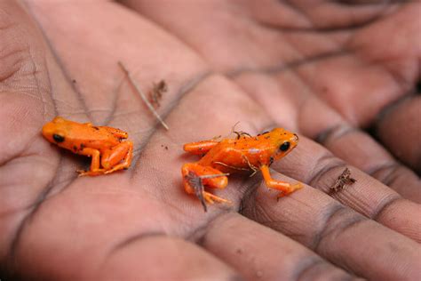
[[[225,189],[228,184],[226,173],[197,163],[183,165],[181,173],[183,175],[184,189],[188,194],[195,194],[201,200],[205,211],[206,203],[213,204],[218,202],[231,204],[231,201],[217,197],[204,190],[205,186],[211,189]]]

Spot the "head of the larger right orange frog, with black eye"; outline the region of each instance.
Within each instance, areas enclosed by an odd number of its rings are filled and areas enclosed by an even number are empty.
[[[270,140],[274,145],[274,160],[286,156],[298,145],[298,135],[282,128],[275,128],[270,133]]]

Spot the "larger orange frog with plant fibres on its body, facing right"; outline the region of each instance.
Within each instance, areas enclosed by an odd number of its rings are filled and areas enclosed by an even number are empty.
[[[184,150],[203,157],[195,162],[183,165],[184,189],[188,194],[195,194],[206,211],[207,203],[226,202],[228,200],[217,197],[203,189],[224,189],[228,184],[226,175],[239,171],[254,171],[263,174],[266,186],[280,190],[278,197],[301,189],[302,184],[290,184],[272,179],[269,166],[276,160],[286,156],[298,144],[298,136],[281,128],[271,132],[264,132],[251,137],[244,132],[236,132],[236,139],[222,141],[198,141],[187,143]]]

